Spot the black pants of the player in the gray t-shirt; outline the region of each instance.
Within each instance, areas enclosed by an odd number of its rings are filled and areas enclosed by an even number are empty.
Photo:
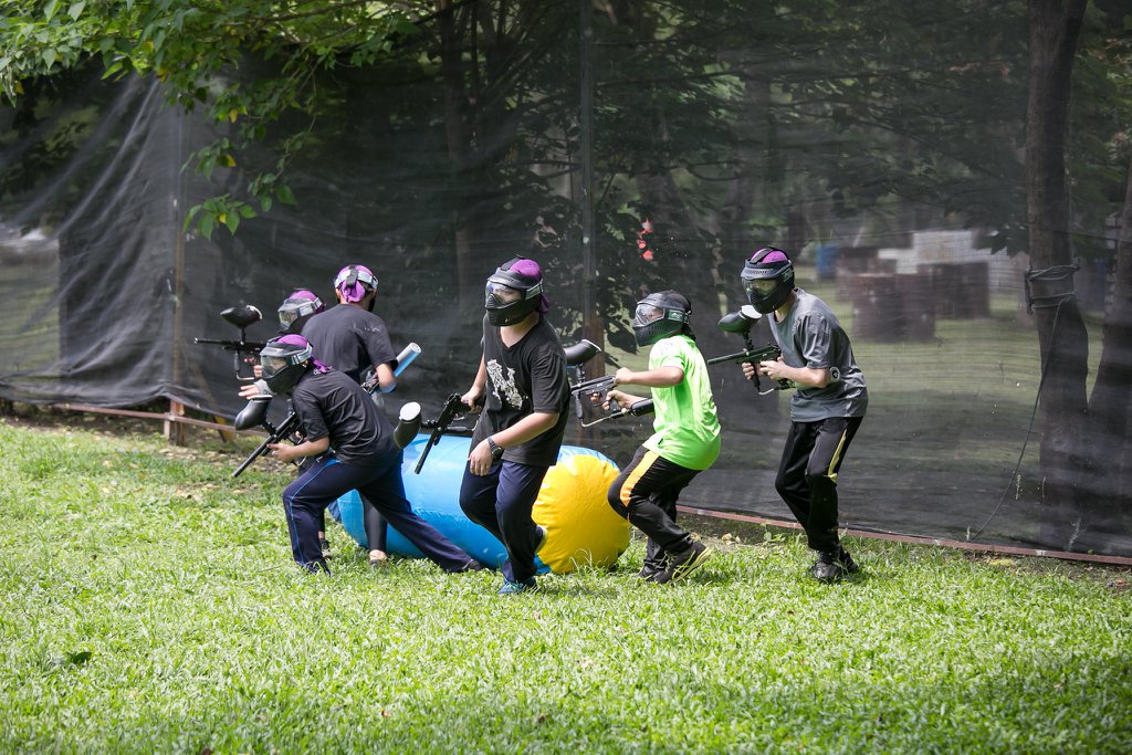
[[[774,488],[814,550],[839,546],[838,470],[863,419],[831,417],[790,424]]]

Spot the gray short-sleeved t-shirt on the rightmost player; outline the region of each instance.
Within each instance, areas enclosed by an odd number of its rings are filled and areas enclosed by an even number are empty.
[[[786,319],[770,317],[771,334],[790,367],[829,369],[824,388],[798,388],[790,401],[790,419],[816,422],[831,417],[864,417],[868,407],[865,376],[852,355],[852,344],[829,304],[795,289]]]

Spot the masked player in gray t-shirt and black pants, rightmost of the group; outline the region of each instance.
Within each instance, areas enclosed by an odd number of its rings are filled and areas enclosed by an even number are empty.
[[[838,471],[857,434],[868,389],[852,345],[830,307],[794,285],[794,265],[781,249],[765,248],[746,261],[743,288],[751,306],[771,315],[782,355],[758,363],[758,375],[790,380],[790,434],[774,487],[806,532],[817,560],[809,569],[821,582],[857,570],[838,539]],[[745,363],[747,378],[755,368]]]

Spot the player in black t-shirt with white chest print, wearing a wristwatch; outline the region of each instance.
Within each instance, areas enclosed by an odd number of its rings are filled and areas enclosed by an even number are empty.
[[[569,413],[566,355],[544,314],[542,271],[515,257],[488,278],[483,355],[463,402],[483,412],[472,435],[460,507],[507,548],[499,594],[535,587],[546,530],[531,520],[547,470],[558,461]]]

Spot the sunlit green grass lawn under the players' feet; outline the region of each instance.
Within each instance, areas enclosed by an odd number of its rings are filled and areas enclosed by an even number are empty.
[[[290,560],[246,449],[0,420],[0,752],[1127,753],[1129,572],[695,521],[686,583]],[[743,527],[736,529],[736,527]]]

